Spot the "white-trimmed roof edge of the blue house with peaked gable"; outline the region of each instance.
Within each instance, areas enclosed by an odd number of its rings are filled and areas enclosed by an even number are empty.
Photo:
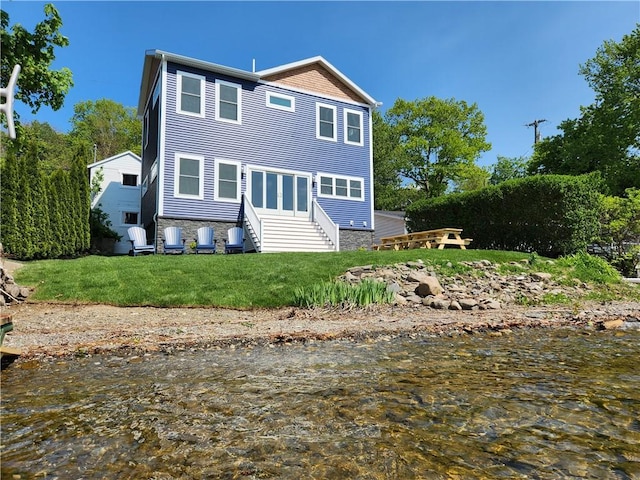
[[[337,68],[331,65],[321,56],[300,60],[298,62],[288,63],[279,67],[269,68],[261,70],[259,72],[248,72],[246,70],[240,70],[238,68],[226,67],[217,63],[205,62],[203,60],[197,60],[191,57],[185,57],[183,55],[177,55],[175,53],[165,52],[162,50],[147,50],[145,52],[144,66],[142,70],[142,81],[140,84],[140,96],[138,97],[138,115],[144,113],[144,107],[151,93],[153,87],[153,81],[156,77],[156,72],[160,68],[163,60],[179,63],[181,65],[191,66],[195,68],[201,68],[214,73],[221,73],[235,78],[243,80],[250,80],[254,82],[266,81],[273,83],[282,83],[292,87],[298,87],[295,81],[291,79],[300,72],[310,71],[316,69],[321,77],[328,79],[328,83],[332,83],[338,91],[342,91],[347,98],[351,100],[357,100],[363,103],[367,103],[372,107],[379,106],[380,103],[376,102],[373,97],[368,95],[364,90],[353,83],[346,75],[342,74]],[[330,78],[329,78],[330,77]],[[335,81],[332,81],[335,79]],[[307,82],[308,83],[308,82]],[[307,88],[307,90],[309,90]],[[326,91],[317,93],[327,93]]]

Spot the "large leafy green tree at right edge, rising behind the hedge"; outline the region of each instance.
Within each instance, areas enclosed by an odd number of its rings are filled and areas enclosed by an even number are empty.
[[[562,133],[536,145],[531,173],[599,171],[614,195],[640,185],[640,25],[620,42],[605,41],[580,67],[595,102],[567,119]]]

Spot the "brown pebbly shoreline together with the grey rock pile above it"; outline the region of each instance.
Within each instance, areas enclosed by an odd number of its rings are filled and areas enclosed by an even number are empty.
[[[98,354],[135,357],[150,352],[337,339],[366,342],[479,332],[499,336],[520,328],[640,329],[638,302],[578,300],[588,293],[588,285],[560,285],[525,264],[514,266],[514,273],[506,275],[499,274],[491,262],[466,267],[470,274],[441,277],[420,262],[354,267],[343,280],[385,282],[395,294],[395,305],[365,309],[239,311],[27,300],[3,307],[14,324],[4,345],[20,349],[19,361],[26,361]],[[575,300],[544,305],[546,298],[557,297]]]

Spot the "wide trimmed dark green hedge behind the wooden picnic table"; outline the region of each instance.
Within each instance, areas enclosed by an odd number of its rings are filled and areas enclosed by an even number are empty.
[[[596,176],[538,175],[423,200],[407,208],[410,231],[462,228],[472,248],[557,257],[584,250],[599,231]]]

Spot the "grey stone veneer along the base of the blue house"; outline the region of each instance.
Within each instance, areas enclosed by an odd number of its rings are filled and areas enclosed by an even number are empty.
[[[164,229],[167,227],[182,228],[182,237],[186,239],[187,253],[194,253],[189,248],[189,244],[197,237],[198,228],[213,227],[214,236],[218,240],[218,251],[224,252],[224,239],[227,238],[227,230],[235,227],[236,222],[210,221],[210,220],[188,220],[184,218],[158,218],[158,243],[156,250],[162,253],[162,239],[164,237]],[[340,229],[340,250],[358,250],[365,248],[369,250],[373,245],[374,232],[371,230],[345,230]],[[253,244],[247,240],[245,244],[247,251],[253,249]]]

